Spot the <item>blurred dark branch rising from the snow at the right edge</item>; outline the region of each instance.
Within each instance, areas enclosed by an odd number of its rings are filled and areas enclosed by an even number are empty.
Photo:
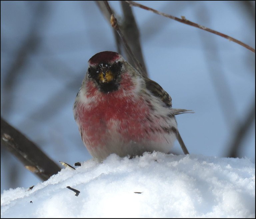
[[[243,122],[240,122],[236,126],[236,130],[232,135],[234,138],[231,140],[227,157],[238,157],[243,139],[255,120],[255,98],[252,100],[252,103],[253,104],[250,106],[249,110],[245,111],[247,113],[246,117],[242,120]]]

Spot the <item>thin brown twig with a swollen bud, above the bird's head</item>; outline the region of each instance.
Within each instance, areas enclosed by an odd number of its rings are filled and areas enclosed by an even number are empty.
[[[121,30],[119,29],[119,26],[118,26],[118,23],[117,23],[117,20],[115,18],[115,16],[113,15],[113,12],[112,12],[112,9],[110,8],[109,4],[108,4],[108,1],[104,1],[104,4],[109,12],[109,14],[111,15],[110,17],[110,22],[111,22],[111,26],[116,30],[116,32],[119,34],[120,38],[122,39],[123,43],[124,43],[124,47],[125,49],[127,50],[129,56],[132,58],[134,64],[135,64],[135,67],[136,69],[143,75],[145,75],[145,72],[142,68],[142,66],[140,65],[140,63],[138,62],[138,60],[135,58],[133,52],[131,51],[127,41],[125,40],[124,38],[124,35],[122,34]]]

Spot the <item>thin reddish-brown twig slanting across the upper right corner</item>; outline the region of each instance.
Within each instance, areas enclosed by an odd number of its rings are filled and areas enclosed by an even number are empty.
[[[168,18],[173,19],[173,20],[175,20],[175,21],[179,21],[179,22],[181,22],[181,23],[183,23],[183,24],[187,24],[187,25],[190,25],[190,26],[193,26],[193,27],[197,27],[197,28],[199,28],[199,29],[202,29],[202,30],[208,31],[208,32],[210,32],[210,33],[216,34],[216,35],[218,35],[218,36],[221,36],[221,37],[223,37],[223,38],[228,39],[229,41],[233,41],[233,42],[235,42],[235,43],[237,43],[237,44],[239,44],[239,45],[245,47],[246,49],[252,51],[253,53],[255,53],[255,49],[253,49],[252,47],[248,46],[247,44],[242,43],[241,41],[239,41],[239,40],[237,40],[237,39],[235,39],[235,38],[233,38],[233,37],[230,37],[230,36],[228,36],[228,35],[226,35],[226,34],[223,34],[223,33],[220,33],[220,32],[218,32],[218,31],[212,30],[212,29],[210,29],[210,28],[204,27],[204,26],[202,26],[202,25],[200,25],[200,24],[196,24],[196,23],[194,23],[194,22],[191,22],[191,21],[187,20],[184,16],[182,16],[182,17],[181,17],[182,19],[180,19],[180,18],[174,17],[174,16],[172,16],[172,15],[168,15],[168,14],[159,12],[159,11],[153,9],[153,8],[149,8],[149,7],[147,7],[147,6],[141,5],[141,4],[136,3],[136,2],[134,2],[134,1],[126,1],[126,2],[128,2],[128,3],[129,3],[130,5],[132,5],[132,6],[136,6],[136,7],[139,7],[139,8],[145,9],[145,10],[148,10],[148,11],[152,11],[152,12],[154,12],[154,13],[156,13],[156,14],[162,15],[162,16],[164,16],[164,17],[168,17]]]

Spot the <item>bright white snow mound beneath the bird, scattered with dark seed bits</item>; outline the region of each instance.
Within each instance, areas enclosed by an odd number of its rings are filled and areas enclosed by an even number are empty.
[[[32,190],[4,191],[1,217],[254,218],[255,164],[246,158],[112,154],[102,163],[91,159],[76,170],[62,169]]]

